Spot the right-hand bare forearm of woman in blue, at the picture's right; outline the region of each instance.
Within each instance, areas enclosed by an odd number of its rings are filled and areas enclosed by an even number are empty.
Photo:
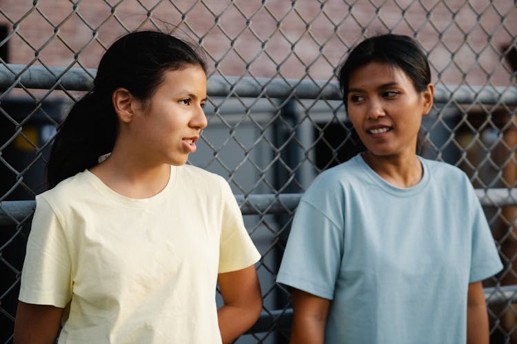
[[[469,284],[467,295],[467,344],[488,344],[489,329],[487,304],[483,294],[483,284]]]

